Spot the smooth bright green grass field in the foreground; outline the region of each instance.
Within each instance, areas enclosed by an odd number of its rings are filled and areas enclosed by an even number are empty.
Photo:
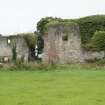
[[[0,105],[105,105],[105,70],[0,71]]]

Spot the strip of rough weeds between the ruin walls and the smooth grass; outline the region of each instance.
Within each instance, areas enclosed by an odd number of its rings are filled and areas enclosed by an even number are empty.
[[[0,64],[0,71],[56,71],[56,70],[101,70],[105,69],[105,59],[78,64],[43,64],[37,62],[21,62]]]

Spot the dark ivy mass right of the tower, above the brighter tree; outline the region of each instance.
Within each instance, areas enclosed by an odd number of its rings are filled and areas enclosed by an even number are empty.
[[[105,15],[88,16],[77,19],[82,43],[88,43],[96,30],[105,31]]]

